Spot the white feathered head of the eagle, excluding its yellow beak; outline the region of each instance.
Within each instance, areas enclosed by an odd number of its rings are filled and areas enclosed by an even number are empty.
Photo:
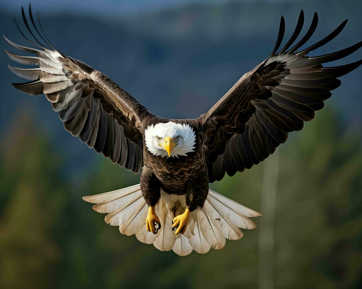
[[[165,148],[160,146],[160,143],[164,142],[167,137],[170,137],[175,144],[171,151],[171,157],[186,156],[188,152],[194,151],[196,135],[190,125],[169,121],[155,125],[151,124],[144,131],[146,147],[155,156],[168,156]]]

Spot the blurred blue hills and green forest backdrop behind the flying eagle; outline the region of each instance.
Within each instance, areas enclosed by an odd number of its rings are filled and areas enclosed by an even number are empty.
[[[0,28],[26,45],[13,22],[28,2],[0,3]],[[100,70],[156,115],[195,118],[286,37],[304,9],[313,55],[362,38],[362,2],[32,1],[51,42]],[[21,22],[21,21],[20,21]],[[307,46],[306,46],[307,47]],[[5,40],[0,50],[15,52]],[[361,50],[343,61],[362,58]],[[81,197],[139,183],[72,137],[44,96],[0,53],[1,288],[362,288],[362,68],[341,77],[316,119],[264,163],[211,188],[264,213],[258,227],[221,251],[160,252],[104,223]]]

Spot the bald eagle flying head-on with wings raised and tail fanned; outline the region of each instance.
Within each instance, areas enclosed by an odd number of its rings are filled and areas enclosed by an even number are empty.
[[[106,223],[119,226],[122,234],[136,234],[143,243],[182,256],[192,250],[220,250],[226,238],[243,237],[239,228],[256,227],[249,218],[261,213],[210,190],[209,183],[268,158],[291,131],[302,130],[304,121],[313,120],[330,91],[341,84],[337,77],[362,63],[322,65],[356,51],[362,42],[307,56],[335,38],[347,21],[299,50],[318,22],[315,13],[307,33],[295,43],[304,22],[301,11],[294,33],[279,52],[285,31],[283,17],[270,56],[245,73],[208,112],[196,119],[167,119],[148,111],[105,74],[57,50],[40,21],[35,25],[30,5],[31,23],[23,8],[21,13],[35,42],[19,29],[20,33],[33,47],[4,37],[32,56],[6,53],[20,64],[36,67],[9,66],[17,76],[30,80],[13,86],[26,94],[45,94],[72,135],[114,164],[134,173],[142,171],[138,185],[83,199],[96,203],[95,211],[108,213]]]

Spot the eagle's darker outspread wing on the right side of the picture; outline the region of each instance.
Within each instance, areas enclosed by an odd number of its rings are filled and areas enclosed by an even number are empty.
[[[244,74],[209,112],[199,118],[203,124],[210,182],[221,180],[225,172],[233,176],[268,158],[287,140],[291,131],[302,130],[304,121],[311,121],[315,111],[324,107],[324,100],[332,95],[330,91],[341,83],[337,77],[362,63],[360,60],[334,67],[322,65],[356,51],[362,42],[326,55],[307,56],[336,37],[347,21],[324,39],[297,52],[314,33],[317,14],[314,14],[306,35],[293,46],[303,22],[301,11],[294,33],[276,53],[285,30],[282,17],[271,55]]]

